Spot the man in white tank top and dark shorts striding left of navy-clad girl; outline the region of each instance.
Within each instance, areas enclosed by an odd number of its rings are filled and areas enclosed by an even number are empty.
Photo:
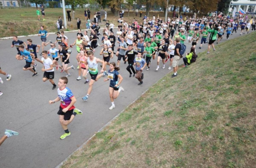
[[[123,39],[123,37],[121,39]],[[98,75],[98,63],[102,63],[102,70],[100,71],[102,74],[99,74],[99,75]],[[94,57],[93,51],[88,51],[88,59],[85,60],[85,65],[89,67],[88,70],[91,76],[87,94],[82,98],[82,100],[87,101],[91,91],[93,90],[93,83],[99,80],[99,78],[107,75],[107,72],[104,71],[104,68],[105,68],[104,61]]]

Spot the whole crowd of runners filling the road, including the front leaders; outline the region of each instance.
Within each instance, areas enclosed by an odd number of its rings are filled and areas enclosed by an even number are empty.
[[[109,80],[111,100],[109,110],[112,110],[115,108],[114,100],[119,96],[120,91],[124,91],[121,86],[123,78],[119,74],[119,69],[124,68],[120,65],[122,61],[127,65],[125,68],[129,77],[135,77],[139,81],[138,85],[143,84],[144,69],[146,68],[146,73],[150,73],[152,64],[157,65],[155,71],[160,71],[160,64],[163,69],[166,66],[169,66],[168,70],[173,68],[172,77],[177,77],[180,60],[183,60],[184,67],[187,67],[195,62],[197,57],[195,51],[201,49],[202,45],[208,46],[207,53],[209,54],[211,46],[215,51],[215,41],[218,44],[225,35],[229,39],[233,33],[238,32],[242,35],[255,31],[255,18],[227,17],[221,14],[214,17],[195,17],[194,15],[193,17],[168,18],[165,22],[154,16],[151,19],[144,17],[140,22],[134,19],[132,23],[119,19],[119,25],[116,26],[117,31],[114,33],[113,23],[107,21],[102,30],[98,23],[93,22],[90,29],[83,32],[81,29],[78,30],[74,42],[69,40],[64,31],[56,33],[55,41],[47,42],[49,33],[44,26],[41,26],[38,32],[41,44],[33,44],[31,39],[23,42],[18,40],[17,36],[13,37],[11,47],[17,49],[15,57],[17,60],[25,60],[23,70],[31,71],[32,77],[35,77],[38,75],[39,66],[44,72],[42,80],[44,82],[49,80],[52,90],[58,86],[58,97],[50,100],[49,103],[61,101],[58,114],[65,131],[61,139],[70,135],[67,125],[76,114],[82,114],[74,106],[76,98],[72,91],[66,87],[68,78],[72,78],[69,71],[77,69],[76,80],[84,80],[84,84],[88,83],[87,93],[82,97],[84,101],[89,99],[96,81],[101,77],[105,77],[104,81]],[[103,35],[102,39],[98,37],[99,35]],[[188,41],[191,46],[185,46],[185,41]],[[190,49],[189,53],[185,53],[186,48]],[[99,55],[94,54],[96,49],[100,51]],[[70,65],[70,59],[76,59],[77,65]],[[56,71],[66,73],[58,80],[58,85],[54,81]],[[7,81],[11,80],[11,74],[1,69],[0,74],[6,75]],[[0,83],[3,83],[1,78]],[[0,95],[2,94],[0,92]],[[6,134],[11,136],[16,133],[10,134],[10,130],[7,130]]]

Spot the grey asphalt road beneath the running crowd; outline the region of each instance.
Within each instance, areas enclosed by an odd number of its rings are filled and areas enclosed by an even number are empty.
[[[65,33],[69,37],[70,43],[76,40],[76,33]],[[230,40],[238,36],[239,33],[230,35]],[[47,41],[55,41],[55,37],[55,34],[50,34]],[[38,36],[23,37],[19,40],[26,42],[28,38],[33,40],[33,44],[41,45]],[[226,41],[226,35],[221,42],[223,41]],[[144,83],[139,86],[135,77],[129,77],[126,70],[127,64],[124,65],[121,61],[119,73],[124,78],[121,85],[125,91],[121,92],[115,100],[116,108],[110,111],[108,109],[111,106],[108,94],[109,81],[104,82],[103,78],[97,81],[93,85],[93,91],[88,101],[84,102],[81,98],[87,93],[88,84],[84,84],[84,80],[77,81],[78,70],[70,69],[72,76],[68,77],[67,87],[71,89],[77,99],[75,106],[84,114],[77,115],[68,125],[71,136],[60,140],[64,131],[58,121],[59,102],[52,105],[48,103],[49,100],[58,96],[57,90],[52,91],[52,85],[48,81],[45,83],[42,81],[42,64],[38,63],[39,75],[36,77],[32,77],[30,71],[23,71],[25,60],[17,61],[15,59],[17,50],[11,48],[11,44],[12,39],[0,40],[0,67],[8,74],[12,74],[10,81],[6,81],[6,77],[0,75],[4,80],[4,83],[0,84],[0,90],[3,92],[0,97],[0,135],[4,134],[5,129],[17,131],[20,135],[8,138],[0,147],[1,168],[52,168],[57,166],[147,88],[172,71],[168,70],[169,65],[162,69],[162,63],[160,63],[160,69],[155,71],[156,60],[151,60],[151,69],[144,71]],[[185,44],[187,52],[189,52],[191,45],[187,41]],[[207,44],[204,44],[202,49],[198,48],[199,45],[196,47],[197,53],[206,50]],[[116,44],[116,46],[118,45]],[[47,50],[49,48],[50,46],[46,47]],[[96,48],[95,56],[98,58],[102,58],[99,55],[100,49]],[[76,67],[76,49],[72,50],[70,65],[73,64]],[[117,57],[115,56],[111,61],[116,62]],[[59,77],[64,75],[66,74],[55,71],[55,83],[58,83]],[[90,79],[90,75],[87,77]]]

